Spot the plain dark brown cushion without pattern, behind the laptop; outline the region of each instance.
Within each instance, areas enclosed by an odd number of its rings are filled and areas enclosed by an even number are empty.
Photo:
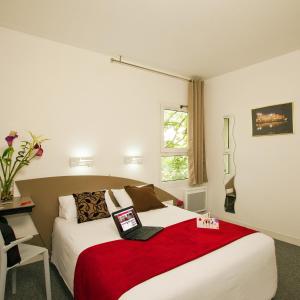
[[[153,184],[142,187],[124,186],[137,212],[166,207],[157,198]]]

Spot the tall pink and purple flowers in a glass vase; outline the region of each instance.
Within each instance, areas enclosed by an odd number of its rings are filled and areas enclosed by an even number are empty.
[[[14,179],[18,172],[30,162],[43,155],[42,143],[47,139],[33,135],[29,132],[31,139],[20,142],[19,149],[15,149],[14,141],[18,138],[16,131],[11,131],[5,138],[7,147],[0,156],[0,202],[13,200]]]

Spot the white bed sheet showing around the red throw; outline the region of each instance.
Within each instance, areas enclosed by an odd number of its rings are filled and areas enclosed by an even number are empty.
[[[143,225],[164,227],[196,216],[174,206],[139,213]],[[117,239],[120,237],[112,218],[82,224],[55,219],[51,259],[72,293],[79,254],[92,245]],[[276,288],[274,241],[254,233],[155,276],[120,299],[270,300]]]

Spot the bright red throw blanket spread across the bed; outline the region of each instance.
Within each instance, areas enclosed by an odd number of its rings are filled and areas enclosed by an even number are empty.
[[[77,260],[74,298],[118,299],[147,279],[253,232],[223,221],[219,230],[199,229],[192,219],[166,227],[148,241],[117,240],[92,246]]]

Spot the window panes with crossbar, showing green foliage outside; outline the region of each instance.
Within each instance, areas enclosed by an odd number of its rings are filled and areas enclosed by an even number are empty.
[[[188,178],[188,113],[182,109],[162,110],[161,180]]]

